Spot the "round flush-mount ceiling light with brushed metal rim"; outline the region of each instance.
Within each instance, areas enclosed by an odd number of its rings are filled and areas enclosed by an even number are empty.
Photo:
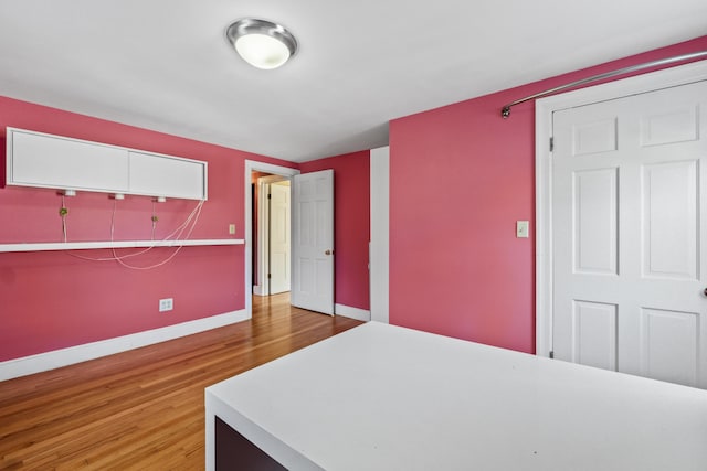
[[[238,20],[225,30],[225,35],[239,55],[257,68],[277,68],[297,51],[295,36],[267,20]]]

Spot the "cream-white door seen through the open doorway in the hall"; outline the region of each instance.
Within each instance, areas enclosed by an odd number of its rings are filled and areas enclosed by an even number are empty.
[[[289,181],[270,184],[270,293],[289,291]]]

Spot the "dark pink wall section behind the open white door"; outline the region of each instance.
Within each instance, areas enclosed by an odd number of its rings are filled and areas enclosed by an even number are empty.
[[[302,173],[334,169],[335,302],[369,309],[370,151],[299,164]]]

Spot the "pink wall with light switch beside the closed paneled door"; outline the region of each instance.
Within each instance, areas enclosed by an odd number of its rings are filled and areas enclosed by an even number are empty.
[[[707,49],[707,36],[390,124],[390,320],[535,351],[535,109],[503,105],[579,78]],[[530,221],[531,237],[515,237]]]

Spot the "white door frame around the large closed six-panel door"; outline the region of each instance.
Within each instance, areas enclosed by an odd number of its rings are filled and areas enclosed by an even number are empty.
[[[536,355],[552,351],[552,116],[555,111],[707,79],[707,61],[541,98],[535,109]]]

